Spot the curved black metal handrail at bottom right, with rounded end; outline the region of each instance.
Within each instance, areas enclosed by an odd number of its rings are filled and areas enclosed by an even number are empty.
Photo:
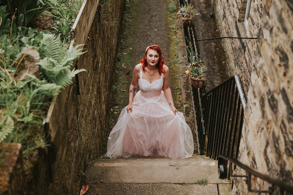
[[[227,163],[229,161],[229,173],[227,171]],[[247,175],[233,175],[232,171],[232,163],[234,164],[234,167],[237,165],[239,168],[246,171]],[[277,180],[275,178],[270,177],[269,175],[262,174],[258,172],[255,169],[250,168],[247,165],[244,165],[243,163],[237,161],[235,158],[231,158],[226,155],[220,155],[218,159],[218,174],[220,179],[227,179],[227,177],[245,177],[246,183],[248,185],[248,191],[250,192],[256,192],[256,193],[270,193],[272,194],[276,190],[276,186],[279,187],[280,193],[278,194],[284,194],[284,191],[287,192],[293,192],[293,185],[286,183],[281,180]],[[266,182],[269,182],[271,184],[268,189],[260,190],[260,189],[252,189],[251,185],[251,175],[254,175],[255,177],[258,177]]]

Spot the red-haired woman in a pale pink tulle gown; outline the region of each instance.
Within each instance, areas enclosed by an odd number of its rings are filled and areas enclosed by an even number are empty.
[[[137,84],[140,91],[135,93]],[[161,48],[148,46],[134,68],[129,103],[110,132],[105,156],[188,158],[192,153],[192,132],[183,113],[174,107]]]

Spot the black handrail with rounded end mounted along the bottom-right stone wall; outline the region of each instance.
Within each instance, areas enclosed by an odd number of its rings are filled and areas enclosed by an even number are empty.
[[[288,191],[288,192],[293,192],[293,185],[292,184],[283,182],[281,180],[277,180],[277,179],[275,179],[273,177],[270,177],[269,175],[265,175],[263,173],[260,173],[257,170],[255,170],[255,169],[253,169],[253,168],[251,168],[251,167],[249,167],[249,166],[247,166],[247,165],[239,162],[238,160],[236,160],[234,158],[231,158],[229,156],[226,156],[226,155],[220,155],[219,158],[218,158],[218,171],[219,171],[219,178],[220,179],[224,179],[223,177],[227,173],[227,171],[225,172],[225,170],[224,170],[224,174],[222,174],[223,173],[222,168],[225,168],[226,167],[226,161],[229,161],[230,162],[229,169],[231,168],[231,163],[233,163],[234,165],[242,168],[243,170],[245,170],[248,173],[248,175],[246,176],[246,175],[232,175],[233,173],[230,172],[230,176],[231,177],[247,177],[248,178],[248,186],[249,186],[248,189],[250,191],[254,191],[254,192],[267,192],[267,193],[269,193],[269,192],[271,192],[273,190],[273,188],[271,189],[271,191],[251,190],[251,185],[250,185],[251,184],[251,175],[254,175],[256,177],[259,177],[262,180],[265,180],[265,181],[271,183],[272,185],[276,185],[276,186],[280,187],[281,194],[284,193],[284,190],[285,191]],[[221,178],[221,176],[223,176],[223,177]],[[227,177],[227,175],[226,175],[226,177]]]

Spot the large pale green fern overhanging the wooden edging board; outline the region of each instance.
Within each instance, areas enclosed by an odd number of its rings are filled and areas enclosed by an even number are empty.
[[[57,37],[53,34],[43,34],[39,52],[42,59],[38,65],[49,83],[64,88],[72,83],[72,78],[77,73],[86,71],[85,69],[70,71],[74,59],[84,53],[78,47],[79,45],[67,50],[67,45],[61,42],[60,34]]]

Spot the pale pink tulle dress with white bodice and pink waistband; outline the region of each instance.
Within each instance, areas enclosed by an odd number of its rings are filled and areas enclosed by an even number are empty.
[[[188,158],[193,154],[193,136],[183,113],[174,115],[164,92],[161,78],[150,83],[138,80],[139,91],[132,102],[132,113],[122,109],[117,124],[108,137],[107,153],[110,158],[164,156]]]

